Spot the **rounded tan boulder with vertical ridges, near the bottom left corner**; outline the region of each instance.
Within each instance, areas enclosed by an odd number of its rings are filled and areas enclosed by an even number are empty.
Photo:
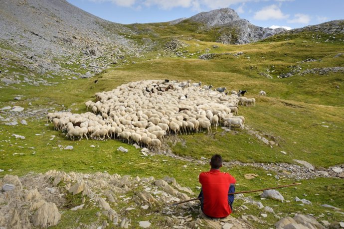
[[[61,219],[61,214],[54,203],[45,202],[32,216],[34,226],[47,228],[55,226]]]

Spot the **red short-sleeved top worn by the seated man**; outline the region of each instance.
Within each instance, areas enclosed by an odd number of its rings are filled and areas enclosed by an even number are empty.
[[[203,213],[213,218],[227,217],[232,213],[228,204],[228,190],[230,184],[236,182],[229,173],[222,173],[219,169],[199,174],[199,183],[203,190]]]

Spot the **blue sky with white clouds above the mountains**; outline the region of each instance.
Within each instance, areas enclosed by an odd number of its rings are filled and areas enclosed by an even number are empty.
[[[103,19],[122,23],[166,22],[232,8],[262,27],[300,28],[344,19],[344,0],[67,0]]]

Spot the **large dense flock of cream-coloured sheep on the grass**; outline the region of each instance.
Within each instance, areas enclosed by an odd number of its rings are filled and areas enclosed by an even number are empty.
[[[171,132],[178,135],[206,129],[210,134],[211,125],[217,128],[219,124],[243,129],[245,118],[236,116],[238,105],[254,106],[255,99],[210,88],[190,81],[131,82],[96,93],[97,102],[85,103],[92,112],[49,113],[47,118],[72,140],[114,138],[151,150],[160,150],[161,141]]]

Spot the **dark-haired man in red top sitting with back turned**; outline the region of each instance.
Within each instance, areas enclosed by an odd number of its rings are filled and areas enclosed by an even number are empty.
[[[236,180],[229,173],[220,172],[222,157],[219,154],[211,157],[210,167],[209,172],[199,174],[201,210],[208,217],[224,218],[232,213]]]

